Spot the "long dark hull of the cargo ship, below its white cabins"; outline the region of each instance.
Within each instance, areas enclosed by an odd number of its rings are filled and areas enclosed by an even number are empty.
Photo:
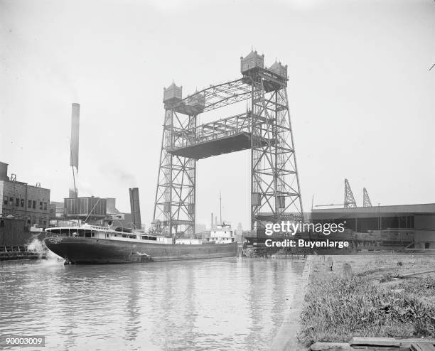
[[[230,244],[152,244],[85,237],[47,237],[45,245],[70,264],[121,264],[235,257]]]

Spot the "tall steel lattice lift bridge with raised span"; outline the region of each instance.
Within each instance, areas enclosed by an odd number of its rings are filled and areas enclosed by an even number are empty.
[[[165,117],[154,229],[171,237],[195,232],[198,160],[250,149],[251,229],[267,222],[302,220],[303,210],[287,98],[287,66],[264,67],[264,55],[240,58],[242,77],[212,85],[183,98],[174,83],[163,90]],[[197,124],[198,116],[243,104],[245,112]],[[240,104],[239,104],[240,105]]]

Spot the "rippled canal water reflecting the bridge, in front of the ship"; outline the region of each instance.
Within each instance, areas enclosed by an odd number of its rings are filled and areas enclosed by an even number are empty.
[[[0,335],[45,335],[41,350],[269,350],[303,269],[236,258],[1,264]]]

